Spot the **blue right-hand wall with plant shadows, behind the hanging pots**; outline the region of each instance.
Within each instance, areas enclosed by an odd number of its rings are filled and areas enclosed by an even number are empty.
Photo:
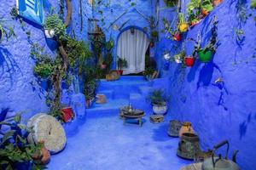
[[[197,32],[201,31],[205,35],[202,42],[206,43],[207,31],[210,29],[208,25],[213,15],[216,15],[219,20],[220,45],[212,62],[203,64],[196,60],[192,68],[185,69],[171,63],[163,77],[169,79],[172,117],[192,122],[204,150],[228,139],[231,150],[240,150],[237,161],[241,169],[253,170],[256,162],[256,28],[255,21],[249,14],[255,15],[255,11],[246,2],[248,19],[244,25],[239,25],[236,20],[236,3],[237,1],[224,1],[198,26],[184,35],[195,38]],[[162,12],[160,16],[165,15]],[[235,28],[244,31],[244,41],[241,43],[236,42]],[[161,38],[159,59],[161,50],[172,49],[173,43],[166,40],[166,37]],[[193,48],[193,42],[185,42],[187,55],[192,54]],[[173,50],[171,53],[173,54]],[[218,77],[222,77],[224,82],[216,84]]]

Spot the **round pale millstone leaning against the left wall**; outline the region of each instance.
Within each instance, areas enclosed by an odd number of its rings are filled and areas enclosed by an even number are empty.
[[[51,154],[55,154],[64,149],[66,145],[66,133],[54,116],[38,114],[32,116],[27,122],[28,127],[32,127],[30,138],[36,143],[44,141],[44,146]]]

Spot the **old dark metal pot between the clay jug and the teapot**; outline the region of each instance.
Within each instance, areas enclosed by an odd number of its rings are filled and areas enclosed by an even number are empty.
[[[192,133],[183,133],[177,148],[177,156],[193,160],[200,153],[199,137]]]

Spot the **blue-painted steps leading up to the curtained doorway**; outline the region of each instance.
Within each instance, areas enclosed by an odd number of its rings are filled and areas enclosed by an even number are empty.
[[[106,104],[91,105],[86,110],[87,114],[96,114],[104,112],[116,113],[121,106],[129,105],[134,108],[148,110],[151,105],[147,102],[147,96],[155,88],[166,87],[165,78],[154,79],[148,82],[142,76],[122,76],[119,80],[108,82],[100,80],[96,94],[105,94]]]

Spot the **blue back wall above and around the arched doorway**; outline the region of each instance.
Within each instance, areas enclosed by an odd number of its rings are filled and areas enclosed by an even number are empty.
[[[109,3],[110,2],[110,3]],[[135,3],[135,5],[132,5]],[[113,37],[114,47],[113,47],[113,69],[116,68],[116,51],[117,51],[117,40],[119,34],[124,31],[126,28],[131,26],[136,26],[140,30],[145,29],[150,34],[150,28],[148,24],[148,20],[143,18],[154,16],[155,17],[155,0],[123,0],[123,1],[109,1],[102,0],[102,5],[96,6],[93,11],[93,16],[96,19],[102,20],[99,22],[99,26],[101,26],[102,30],[106,35],[107,41],[110,37]],[[137,10],[142,14],[139,14]],[[124,14],[125,13],[125,14]],[[119,18],[121,14],[124,14]],[[116,20],[118,19],[119,20]],[[115,25],[119,26],[119,30],[115,31],[110,26],[113,21]],[[127,21],[127,23],[122,27],[122,25]],[[110,26],[110,27],[109,27]],[[121,28],[122,27],[122,28]],[[109,29],[108,29],[109,28]]]

